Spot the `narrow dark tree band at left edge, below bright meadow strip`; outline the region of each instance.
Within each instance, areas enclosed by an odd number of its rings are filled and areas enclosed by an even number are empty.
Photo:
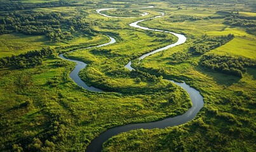
[[[55,53],[55,49],[44,47],[39,51],[29,51],[18,56],[5,57],[0,59],[0,68],[31,68],[41,65],[43,58]]]

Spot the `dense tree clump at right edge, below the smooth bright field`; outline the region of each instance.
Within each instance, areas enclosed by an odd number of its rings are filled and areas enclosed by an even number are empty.
[[[243,72],[246,72],[246,66],[256,68],[256,60],[228,55],[207,54],[201,58],[200,65],[217,72],[243,77]]]

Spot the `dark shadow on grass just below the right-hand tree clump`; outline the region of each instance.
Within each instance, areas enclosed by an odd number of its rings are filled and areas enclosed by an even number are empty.
[[[213,80],[215,80],[215,82],[217,82],[217,84],[225,85],[227,87],[231,86],[232,84],[238,82],[241,79],[241,78],[233,76],[233,75],[226,75],[224,73],[204,69],[200,66],[196,67],[196,70],[207,75],[208,77],[212,77]]]

